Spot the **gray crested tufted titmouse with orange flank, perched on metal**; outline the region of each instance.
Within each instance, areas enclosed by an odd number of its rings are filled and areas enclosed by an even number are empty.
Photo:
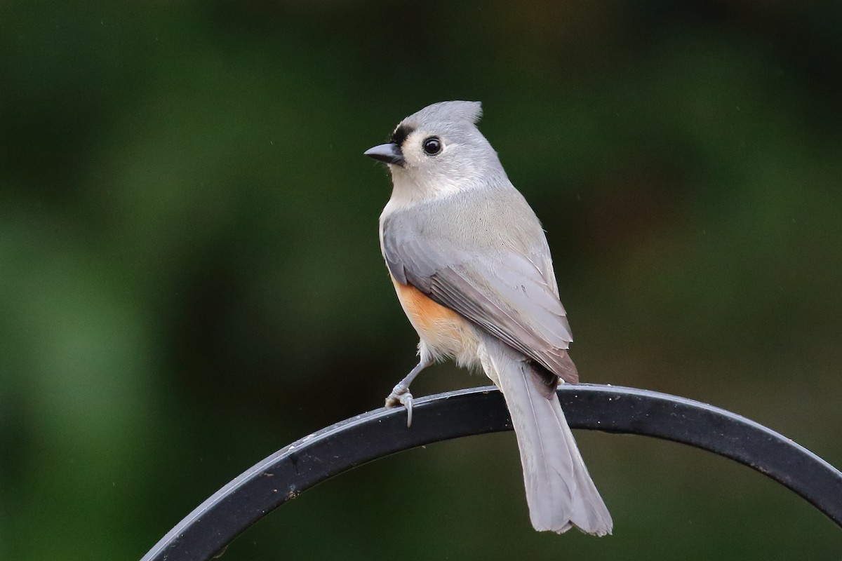
[[[577,382],[573,337],[535,213],[477,129],[480,103],[434,103],[365,151],[392,172],[380,241],[420,342],[418,366],[386,398],[412,422],[409,384],[438,358],[482,366],[503,392],[536,530],[611,532],[556,395]]]

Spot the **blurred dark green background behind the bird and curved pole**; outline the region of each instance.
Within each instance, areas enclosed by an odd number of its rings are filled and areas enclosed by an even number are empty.
[[[593,5],[592,5],[593,4]],[[842,465],[838,2],[0,3],[0,558],[131,559],[243,469],[382,405],[416,337],[362,156],[428,103],[536,209],[587,382]],[[488,384],[450,365],[416,395]],[[762,475],[578,432],[615,535],[533,532],[511,433],[358,468],[275,558],[837,558]]]

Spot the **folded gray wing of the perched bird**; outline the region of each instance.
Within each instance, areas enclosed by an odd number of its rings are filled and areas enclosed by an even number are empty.
[[[546,242],[541,240],[536,251],[546,256],[516,251],[478,255],[418,236],[383,238],[386,265],[399,283],[413,285],[551,373],[577,382],[567,352],[573,336],[556,293]]]

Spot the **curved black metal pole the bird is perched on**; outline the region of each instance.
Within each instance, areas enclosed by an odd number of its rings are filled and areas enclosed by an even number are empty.
[[[731,458],[795,491],[842,527],[842,473],[765,426],[644,389],[565,384],[558,397],[573,428],[663,438]],[[350,468],[432,442],[511,428],[503,396],[493,387],[418,399],[411,428],[402,409],[357,415],[293,442],[237,476],[141,561],[210,559],[270,511]]]

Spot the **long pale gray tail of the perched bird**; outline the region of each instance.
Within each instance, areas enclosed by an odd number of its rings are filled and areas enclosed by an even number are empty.
[[[531,372],[535,367],[519,352],[490,338],[485,351],[482,366],[502,390],[517,435],[532,526],[557,533],[573,526],[598,536],[610,533],[611,515],[590,479],[557,395],[541,395]]]

